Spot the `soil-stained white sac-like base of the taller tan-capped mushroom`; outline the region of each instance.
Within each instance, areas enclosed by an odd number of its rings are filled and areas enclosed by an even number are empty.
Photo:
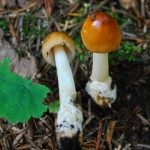
[[[67,98],[65,103],[60,104],[56,120],[56,137],[59,147],[66,147],[66,144],[72,142],[82,143],[83,115],[78,104],[75,104],[74,100]],[[69,145],[67,148],[70,147]],[[72,149],[70,149],[72,150]]]

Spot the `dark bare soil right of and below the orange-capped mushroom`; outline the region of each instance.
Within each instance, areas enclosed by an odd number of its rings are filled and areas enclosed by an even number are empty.
[[[101,130],[101,139],[106,139],[109,124],[115,122],[113,133],[112,149],[128,144],[131,149],[144,150],[142,144],[149,144],[150,141],[150,70],[149,65],[141,63],[120,62],[111,67],[111,74],[117,85],[117,100],[112,108],[99,108],[92,103],[92,115],[94,119],[85,128],[85,139],[96,140],[98,130]],[[85,94],[83,101],[87,104],[91,100]],[[91,100],[92,101],[92,100]],[[98,117],[98,118],[97,118]],[[95,124],[97,124],[95,126]],[[101,128],[99,129],[99,125]],[[109,144],[101,141],[100,149],[109,149]],[[141,144],[141,145],[140,145]],[[129,149],[129,148],[127,148]]]

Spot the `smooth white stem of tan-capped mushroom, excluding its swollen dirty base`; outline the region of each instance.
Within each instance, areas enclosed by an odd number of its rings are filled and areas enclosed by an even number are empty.
[[[59,83],[60,103],[65,103],[66,97],[74,99],[76,97],[75,83],[69,60],[63,46],[54,47],[55,63]]]

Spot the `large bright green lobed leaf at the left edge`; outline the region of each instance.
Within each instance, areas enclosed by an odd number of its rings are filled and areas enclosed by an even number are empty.
[[[11,72],[9,63],[9,58],[0,63],[0,118],[10,123],[39,118],[47,110],[42,101],[50,90]]]

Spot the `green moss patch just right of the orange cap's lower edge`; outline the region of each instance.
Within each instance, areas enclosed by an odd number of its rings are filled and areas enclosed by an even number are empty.
[[[112,63],[115,61],[128,60],[135,62],[137,54],[141,52],[141,47],[137,47],[134,42],[125,41],[121,44],[120,48],[114,53],[109,55],[109,59]]]

